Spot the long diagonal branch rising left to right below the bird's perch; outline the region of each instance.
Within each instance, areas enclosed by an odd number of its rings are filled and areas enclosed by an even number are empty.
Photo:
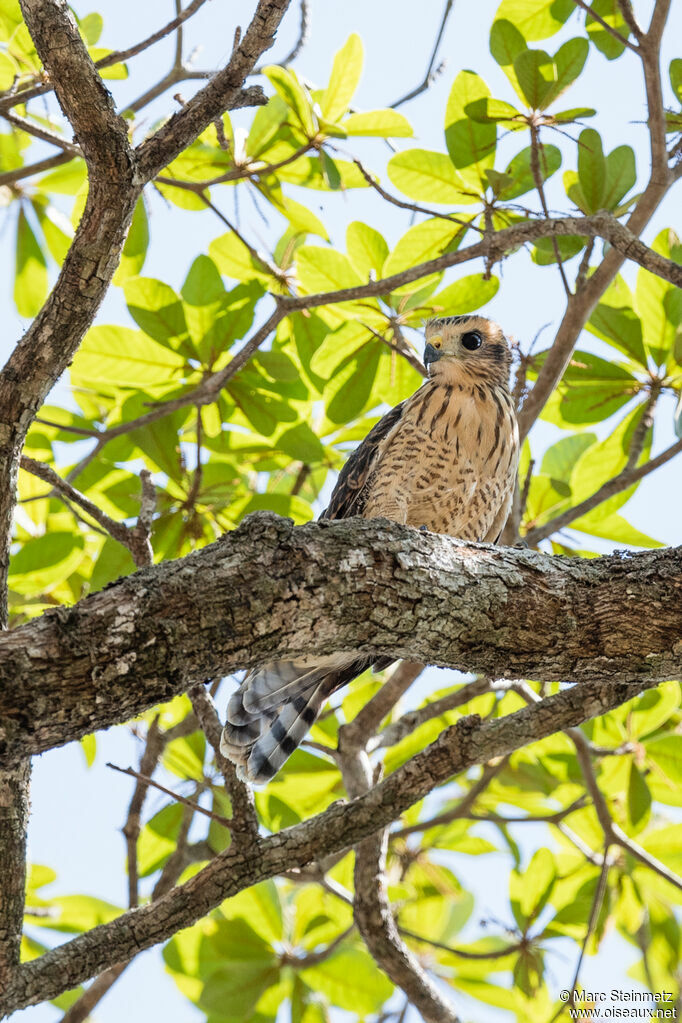
[[[462,718],[431,746],[350,804],[334,803],[313,819],[254,841],[245,849],[230,847],[156,902],[130,910],[26,963],[10,987],[0,994],[0,1014],[52,998],[125,962],[190,926],[245,887],[351,848],[387,827],[454,774],[604,714],[650,684],[650,679],[639,679],[636,684],[597,681],[573,686],[537,706],[493,721]]]

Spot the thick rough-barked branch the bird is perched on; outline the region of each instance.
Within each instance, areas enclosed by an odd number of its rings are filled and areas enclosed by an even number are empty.
[[[583,561],[385,520],[294,528],[259,513],[0,635],[0,757],[125,721],[192,681],[313,652],[654,683],[682,675],[681,597],[682,548]]]

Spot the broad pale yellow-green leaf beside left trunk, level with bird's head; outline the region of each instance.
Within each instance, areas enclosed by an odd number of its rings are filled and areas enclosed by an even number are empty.
[[[140,330],[94,326],[76,354],[71,379],[74,387],[116,394],[119,388],[168,387],[183,368],[181,355]]]

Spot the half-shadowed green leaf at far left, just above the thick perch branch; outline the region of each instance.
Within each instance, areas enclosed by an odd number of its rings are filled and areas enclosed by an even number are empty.
[[[49,593],[76,572],[85,557],[78,533],[54,531],[32,537],[9,562],[9,588],[25,596]]]

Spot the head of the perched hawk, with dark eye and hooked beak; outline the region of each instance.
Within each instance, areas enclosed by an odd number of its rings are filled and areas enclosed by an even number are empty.
[[[511,352],[502,328],[485,316],[443,316],[428,320],[424,365],[431,377],[462,374],[507,385]]]

